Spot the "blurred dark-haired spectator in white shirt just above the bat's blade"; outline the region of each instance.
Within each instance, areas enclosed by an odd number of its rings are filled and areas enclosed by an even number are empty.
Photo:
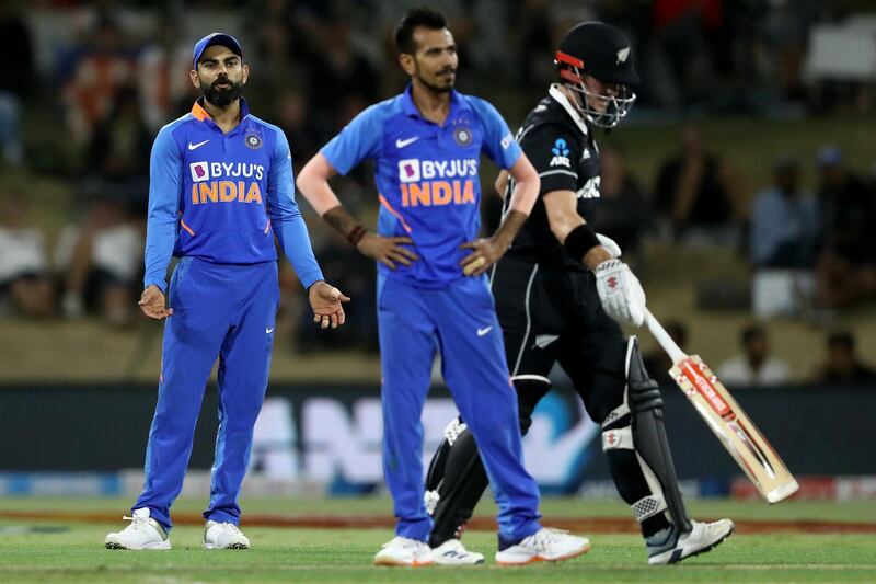
[[[740,341],[742,354],[718,367],[717,375],[724,383],[754,387],[787,382],[791,369],[786,363],[770,356],[770,341],[762,325],[746,327]]]

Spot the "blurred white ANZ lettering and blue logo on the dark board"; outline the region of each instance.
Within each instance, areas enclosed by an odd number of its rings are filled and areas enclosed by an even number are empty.
[[[424,472],[456,416],[449,398],[426,400]],[[251,466],[268,478],[324,484],[330,493],[369,492],[383,483],[382,432],[378,396],[268,398],[256,422]],[[580,399],[552,391],[523,437],[526,467],[542,492],[575,492],[586,474],[588,446],[598,439],[599,425]]]

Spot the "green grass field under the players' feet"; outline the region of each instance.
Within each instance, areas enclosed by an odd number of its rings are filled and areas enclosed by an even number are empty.
[[[303,529],[247,527],[249,551],[205,551],[201,529],[178,526],[174,549],[163,552],[111,551],[103,537],[120,528],[114,523],[74,519],[10,519],[11,512],[126,513],[120,500],[0,499],[0,582],[876,582],[876,534],[775,533],[747,534],[740,529],[711,553],[676,566],[648,566],[639,537],[584,534],[590,553],[562,564],[500,569],[493,564],[495,536],[470,531],[466,543],[487,556],[473,568],[387,569],[370,565],[374,551],[392,537],[390,529]],[[181,500],[180,512],[197,512],[203,502]],[[274,499],[243,501],[253,517],[309,514],[349,516],[389,515],[385,499]],[[483,505],[479,514],[491,514]],[[703,501],[690,504],[698,517],[729,516],[757,520],[829,520],[876,524],[871,503],[761,503]],[[581,519],[626,517],[618,502],[545,500],[546,517]],[[550,524],[550,520],[545,523]]]

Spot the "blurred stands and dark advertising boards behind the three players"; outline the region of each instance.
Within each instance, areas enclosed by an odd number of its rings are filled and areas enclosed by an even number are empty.
[[[804,495],[876,496],[873,2],[430,4],[459,45],[458,89],[491,100],[511,127],[546,93],[572,25],[598,19],[626,32],[643,84],[630,117],[597,134],[597,229],[622,245],[652,310],[802,476]],[[141,485],[162,331],[136,307],[148,159],[157,130],[197,96],[194,42],[212,31],[241,41],[251,108],[286,131],[300,169],[364,107],[404,88],[391,31],[410,5],[2,2],[0,494],[129,497]],[[487,232],[499,213],[494,178],[484,165]],[[370,168],[335,186],[373,225]],[[315,330],[281,262],[247,492],[379,491],[374,268],[300,203],[323,271],[353,302],[342,330]],[[669,383],[688,492],[749,495],[641,334],[653,374]],[[545,492],[613,496],[598,428],[560,373],[556,383],[527,437],[533,473]],[[440,386],[436,376],[426,456],[454,414]],[[215,427],[210,388],[186,494],[207,494]]]

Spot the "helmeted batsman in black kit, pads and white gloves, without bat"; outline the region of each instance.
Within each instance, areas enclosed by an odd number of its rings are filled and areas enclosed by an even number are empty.
[[[688,518],[664,430],[662,400],[635,337],[618,322],[645,319],[645,294],[621,250],[588,226],[599,206],[593,129],[612,128],[635,101],[630,42],[599,22],[569,31],[556,53],[558,82],[527,116],[517,139],[541,178],[539,201],[496,264],[492,289],[527,433],[548,375],[560,363],[589,415],[621,497],[645,538],[648,562],[673,563],[726,539],[733,522]],[[507,192],[507,175],[497,190]],[[507,201],[508,197],[506,197]],[[427,476],[430,545],[459,538],[487,478],[464,421],[451,422]]]

